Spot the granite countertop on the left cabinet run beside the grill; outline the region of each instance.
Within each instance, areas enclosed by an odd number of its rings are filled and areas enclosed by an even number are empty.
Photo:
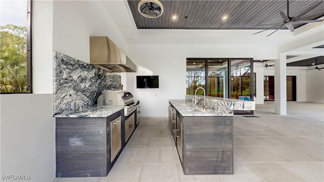
[[[53,115],[54,117],[108,117],[124,109],[124,106],[91,106],[82,111],[66,111]]]

